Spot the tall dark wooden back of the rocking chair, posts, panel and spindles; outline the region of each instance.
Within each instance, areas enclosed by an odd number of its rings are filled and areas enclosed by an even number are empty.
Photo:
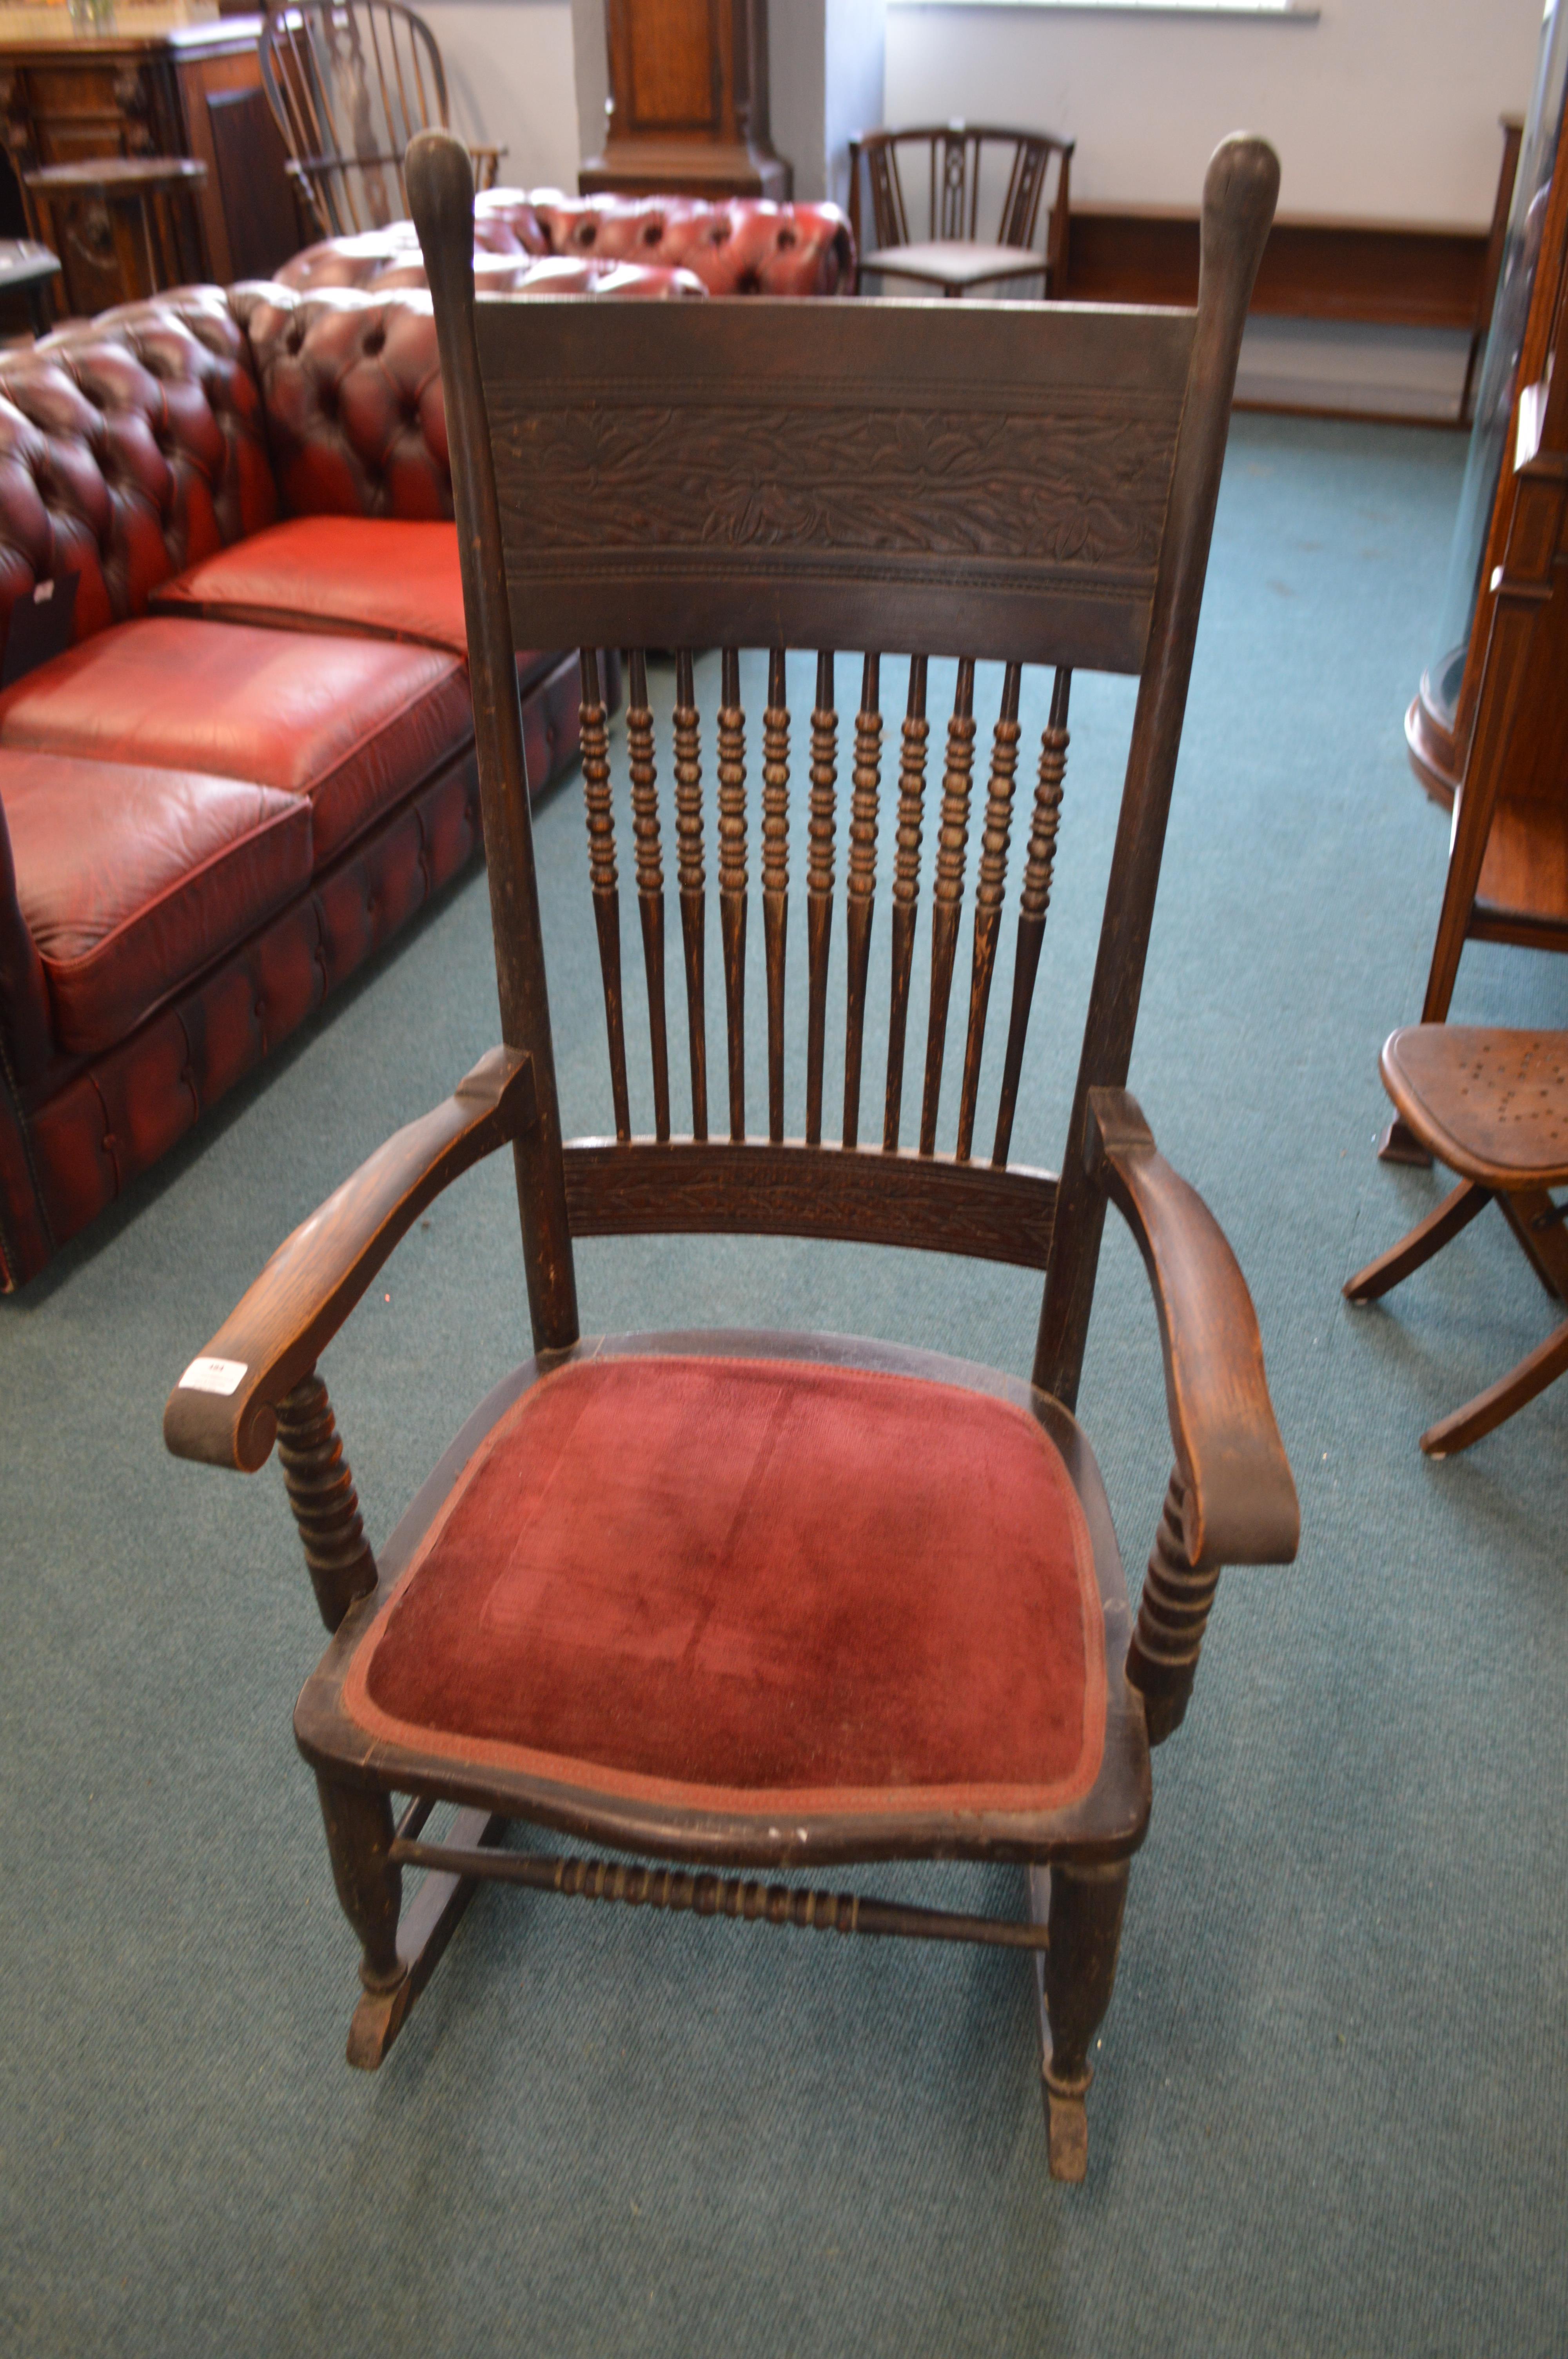
[[[1045,1274],[1037,1382],[1078,1392],[1101,1198],[1085,1168],[1094,1085],[1127,1078],[1181,734],[1228,403],[1278,163],[1257,139],[1205,184],[1198,311],[986,304],[474,302],[472,172],[424,134],[410,196],[436,309],[469,604],[490,906],[507,1043],[538,1069],[519,1151],[535,1326],[575,1333],[571,1238],[785,1234],[920,1246]],[[613,1135],[561,1144],[538,932],[514,646],[582,649],[589,901]],[[707,1104],[707,849],[693,651],[719,649],[717,934],[726,1057]],[[601,651],[630,653],[627,762],[655,1137],[632,1135],[615,795]],[[691,1135],[670,1118],[665,868],[646,651],[674,649],[672,783],[691,1050]],[[788,1121],[788,651],[816,658],[804,793],[804,1106]],[[759,840],[740,653],[766,656]],[[858,656],[854,672],[839,656]],[[861,1144],[868,960],[882,811],[882,691],[905,694],[891,826],[891,970],[879,1144]],[[936,672],[936,665],[950,665]],[[1000,665],[995,708],[986,708]],[[1026,665],[1054,672],[1028,814],[1012,1007],[990,1158],[976,1161],[993,974],[1021,755]],[[1137,672],[1139,703],[1066,1180],[1009,1163],[1068,753],[1075,668]],[[929,715],[953,677],[950,712]],[[854,686],[851,686],[854,682]],[[757,677],[762,686],[762,677]],[[842,743],[837,696],[858,689]],[[936,736],[936,743],[931,738]],[[891,748],[889,748],[891,753]],[[849,826],[839,854],[839,767]],[[979,771],[979,861],[962,974]],[[927,819],[927,788],[931,811]],[[712,790],[710,790],[712,793]],[[710,804],[712,811],[712,804]],[[905,1092],[913,951],[929,859],[924,1066]],[[835,899],[844,885],[844,1121],[823,1137]],[[766,1123],[747,1123],[747,911],[762,899]],[[955,991],[957,984],[957,991]],[[957,998],[957,1010],[953,1000]],[[962,1062],[948,1031],[962,1029]],[[679,1033],[677,1033],[679,1036]],[[948,1106],[943,1109],[943,1076]],[[953,1087],[957,1076],[957,1087]],[[913,1080],[913,1078],[910,1078]],[[905,1123],[905,1102],[917,1106]],[[870,1128],[870,1125],[868,1125]],[[903,1142],[903,1130],[915,1137]],[[712,1135],[710,1135],[712,1132]],[[802,1135],[804,1132],[804,1135]],[[950,1149],[938,1142],[953,1139]],[[528,1191],[535,1191],[533,1203]]]

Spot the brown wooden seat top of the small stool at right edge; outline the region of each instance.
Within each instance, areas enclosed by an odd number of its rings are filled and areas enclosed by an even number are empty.
[[[1568,1187],[1568,1033],[1408,1024],[1389,1097],[1441,1163],[1481,1187]]]

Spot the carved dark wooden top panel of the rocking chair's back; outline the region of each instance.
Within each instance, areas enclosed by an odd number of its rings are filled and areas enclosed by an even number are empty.
[[[479,304],[519,646],[1137,672],[1191,311]]]

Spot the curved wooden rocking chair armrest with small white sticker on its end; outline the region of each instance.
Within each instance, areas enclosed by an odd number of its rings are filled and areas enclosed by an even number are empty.
[[[493,1047],[441,1106],[377,1146],[283,1238],[174,1385],[163,1411],[174,1456],[245,1474],[266,1465],[278,1401],[316,1366],[403,1231],[443,1187],[535,1118],[533,1059]]]

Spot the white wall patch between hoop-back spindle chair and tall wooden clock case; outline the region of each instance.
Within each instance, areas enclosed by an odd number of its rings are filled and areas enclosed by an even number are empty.
[[[441,45],[453,130],[505,139],[500,177],[578,186],[571,0],[417,0]]]

